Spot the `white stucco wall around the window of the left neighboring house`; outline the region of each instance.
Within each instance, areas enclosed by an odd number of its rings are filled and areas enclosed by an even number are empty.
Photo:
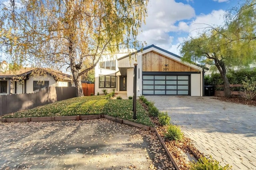
[[[56,81],[50,75],[45,76],[32,76],[29,75],[29,79],[26,82],[26,93],[34,93],[33,91],[33,81],[49,81],[49,86],[56,86]],[[55,84],[55,85],[54,85]]]

